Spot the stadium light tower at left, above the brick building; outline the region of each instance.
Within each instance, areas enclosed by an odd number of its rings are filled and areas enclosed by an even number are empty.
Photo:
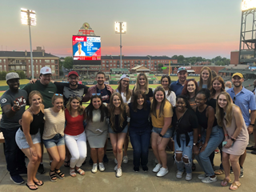
[[[21,9],[21,16],[22,16],[22,24],[29,26],[36,26],[37,25],[37,19],[35,17],[35,11],[34,10],[26,10]],[[31,43],[31,32],[30,32],[30,58],[31,58],[31,74],[32,78],[34,78],[34,67],[33,67],[33,54],[32,54],[32,43]]]

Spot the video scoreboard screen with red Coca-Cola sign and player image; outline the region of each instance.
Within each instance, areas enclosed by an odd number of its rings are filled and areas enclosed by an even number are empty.
[[[74,65],[101,65],[101,38],[76,36],[72,38]]]

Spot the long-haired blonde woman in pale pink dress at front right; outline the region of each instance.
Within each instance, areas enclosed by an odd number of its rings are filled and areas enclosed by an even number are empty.
[[[227,186],[230,179],[230,163],[234,171],[234,182],[230,190],[237,190],[239,182],[240,166],[239,158],[245,153],[249,142],[249,135],[246,123],[242,118],[242,112],[238,106],[232,103],[230,94],[222,92],[217,98],[216,118],[218,125],[222,126],[225,140],[222,142],[222,164],[225,170],[225,178],[221,182],[222,186]]]

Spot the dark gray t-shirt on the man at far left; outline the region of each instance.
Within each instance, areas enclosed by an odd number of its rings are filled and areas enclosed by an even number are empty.
[[[26,108],[26,100],[27,100],[27,93],[26,90],[18,90],[18,93],[14,93],[10,90],[6,90],[1,97],[1,107],[10,105],[14,106],[14,101],[20,106],[20,110],[18,110],[13,117],[7,118],[6,114],[2,113],[2,119],[0,122],[0,126],[3,129],[15,128],[20,126],[18,124],[18,120],[22,118],[22,114]]]

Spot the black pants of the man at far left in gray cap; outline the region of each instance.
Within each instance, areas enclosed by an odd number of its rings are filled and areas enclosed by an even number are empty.
[[[5,138],[5,155],[7,170],[10,176],[18,175],[19,171],[26,170],[25,154],[20,150],[15,141],[15,135],[19,127],[3,129],[2,134]]]

